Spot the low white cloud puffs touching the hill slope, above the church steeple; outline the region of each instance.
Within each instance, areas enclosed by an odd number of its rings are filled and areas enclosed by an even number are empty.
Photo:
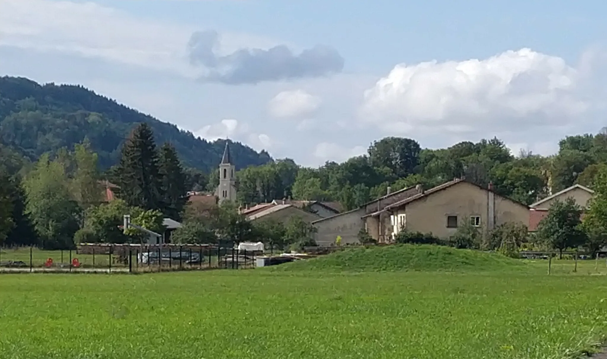
[[[273,146],[270,136],[265,133],[254,133],[248,124],[240,123],[236,119],[222,119],[216,124],[206,125],[195,131],[194,136],[200,136],[208,141],[229,138],[234,141],[242,141],[255,150],[268,150]]]

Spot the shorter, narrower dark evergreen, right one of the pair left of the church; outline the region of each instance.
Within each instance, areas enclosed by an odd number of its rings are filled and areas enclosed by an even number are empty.
[[[175,147],[165,143],[160,148],[159,161],[160,175],[162,176],[161,192],[164,195],[164,215],[181,221],[183,209],[188,202],[187,177],[181,167]]]

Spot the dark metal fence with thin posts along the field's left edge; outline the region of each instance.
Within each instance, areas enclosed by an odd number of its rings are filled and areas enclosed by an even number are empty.
[[[262,253],[233,244],[83,244],[76,249],[0,247],[0,273],[145,273],[174,270],[248,269]]]

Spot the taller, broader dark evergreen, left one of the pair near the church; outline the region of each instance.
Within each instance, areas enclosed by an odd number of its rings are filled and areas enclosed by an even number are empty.
[[[120,198],[129,206],[163,209],[158,152],[154,133],[148,124],[142,123],[131,132],[122,147],[116,172]]]

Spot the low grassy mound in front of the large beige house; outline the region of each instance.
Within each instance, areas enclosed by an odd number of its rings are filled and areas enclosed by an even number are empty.
[[[400,270],[503,270],[524,266],[521,261],[497,253],[454,249],[443,246],[404,244],[385,247],[353,248],[311,260],[273,267],[273,270],[320,270],[354,272],[392,272]]]

